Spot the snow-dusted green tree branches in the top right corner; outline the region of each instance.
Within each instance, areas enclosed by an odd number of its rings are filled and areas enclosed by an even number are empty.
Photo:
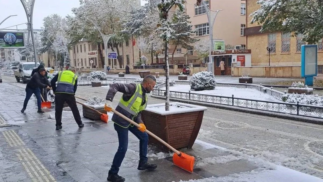
[[[259,0],[251,23],[262,25],[261,32],[294,32],[305,35],[303,41],[315,44],[323,37],[322,0]]]

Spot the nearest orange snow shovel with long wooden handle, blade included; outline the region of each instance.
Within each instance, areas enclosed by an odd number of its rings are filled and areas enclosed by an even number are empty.
[[[107,106],[107,107],[109,107],[109,109],[111,109],[108,112],[112,111],[113,113],[115,113],[118,116],[122,117],[123,119],[127,120],[129,123],[135,125],[136,127],[138,127],[138,128],[141,127],[138,123],[136,123],[136,122],[132,121],[131,119],[127,118],[126,116],[124,116],[120,112],[114,110],[108,104],[105,104],[105,106]],[[156,136],[155,134],[151,133],[148,130],[146,130],[146,133],[151,135],[152,137],[156,138],[158,141],[160,141],[162,144],[166,145],[169,149],[171,149],[175,153],[173,155],[173,163],[174,163],[175,166],[178,166],[178,167],[184,169],[185,171],[193,173],[193,166],[194,166],[194,161],[195,161],[195,158],[193,156],[184,154],[184,153],[174,149],[171,145],[167,144],[161,138],[159,138],[158,136]]]

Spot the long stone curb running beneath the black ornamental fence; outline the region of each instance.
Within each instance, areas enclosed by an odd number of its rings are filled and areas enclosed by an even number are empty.
[[[156,99],[165,100],[165,97],[162,97],[162,96],[151,95],[151,97],[156,98]],[[288,119],[288,120],[300,121],[300,122],[305,122],[305,123],[313,123],[313,124],[323,125],[322,119],[291,115],[288,113],[260,111],[260,110],[247,109],[247,108],[241,108],[241,107],[236,107],[236,106],[227,106],[227,105],[215,104],[215,103],[190,101],[190,100],[177,99],[177,98],[170,98],[170,101],[176,101],[176,102],[182,102],[182,103],[188,103],[188,104],[196,104],[196,105],[202,105],[202,106],[206,106],[206,107],[214,107],[214,108],[226,109],[226,110],[231,110],[231,111],[246,112],[246,113],[250,113],[250,114],[264,115],[264,116],[269,116],[269,117],[276,117],[276,118],[281,118],[281,119]]]

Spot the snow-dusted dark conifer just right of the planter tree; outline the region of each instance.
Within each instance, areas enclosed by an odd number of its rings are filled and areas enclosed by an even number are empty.
[[[175,46],[172,52],[172,63],[174,61],[174,53],[177,49],[177,46],[182,48],[189,48],[190,44],[198,41],[198,39],[192,38],[195,33],[195,30],[192,30],[192,26],[189,21],[190,16],[186,15],[185,12],[176,11],[172,15],[172,29],[174,30],[171,38],[172,45]]]

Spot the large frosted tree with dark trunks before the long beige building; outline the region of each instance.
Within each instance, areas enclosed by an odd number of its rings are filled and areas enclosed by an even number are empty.
[[[104,65],[101,51],[102,37],[94,23],[104,35],[112,35],[108,44],[112,51],[116,50],[121,68],[123,63],[119,46],[116,45],[128,40],[129,37],[125,37],[120,31],[123,30],[123,22],[129,17],[130,11],[136,7],[133,0],[80,0],[80,6],[72,9],[74,16],[68,16],[68,35],[72,43],[86,38],[97,44],[99,57]]]

